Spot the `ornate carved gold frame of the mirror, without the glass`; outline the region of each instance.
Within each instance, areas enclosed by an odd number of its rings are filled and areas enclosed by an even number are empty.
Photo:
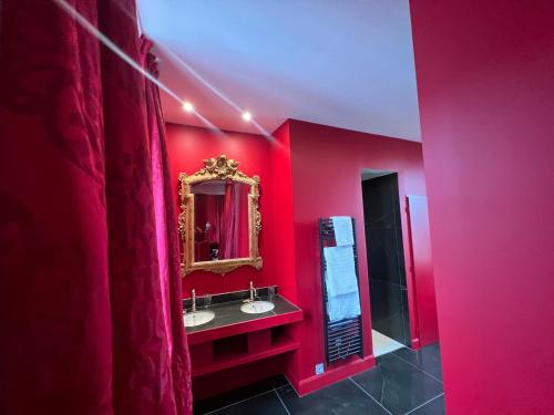
[[[218,261],[194,261],[194,194],[191,186],[208,180],[230,180],[250,186],[248,193],[248,258],[222,259]],[[261,257],[258,250],[258,237],[261,230],[261,215],[259,212],[259,177],[249,177],[238,169],[238,162],[222,154],[217,158],[204,160],[204,167],[195,174],[178,175],[178,196],[181,212],[178,215],[178,231],[183,247],[181,274],[185,277],[193,271],[209,271],[225,274],[239,267],[250,266],[261,269]]]

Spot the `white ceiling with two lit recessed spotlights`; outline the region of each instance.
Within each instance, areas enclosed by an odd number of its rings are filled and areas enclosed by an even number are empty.
[[[161,81],[222,129],[259,133],[248,110],[268,132],[296,118],[420,141],[408,0],[137,3]],[[162,98],[167,121],[203,125]]]

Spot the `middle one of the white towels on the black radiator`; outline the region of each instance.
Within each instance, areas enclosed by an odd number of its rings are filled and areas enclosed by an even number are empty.
[[[325,247],[326,286],[329,298],[358,292],[352,247]]]

